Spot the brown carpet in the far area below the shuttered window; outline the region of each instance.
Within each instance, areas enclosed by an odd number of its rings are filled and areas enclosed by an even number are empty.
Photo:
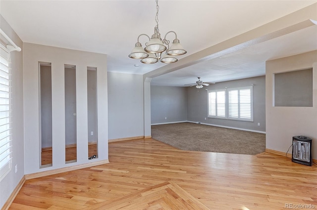
[[[181,150],[256,155],[265,151],[265,134],[194,123],[152,126],[152,138]]]

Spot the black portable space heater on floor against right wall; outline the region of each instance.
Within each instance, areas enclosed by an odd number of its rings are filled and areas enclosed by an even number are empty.
[[[312,166],[312,139],[306,136],[293,136],[292,162]]]

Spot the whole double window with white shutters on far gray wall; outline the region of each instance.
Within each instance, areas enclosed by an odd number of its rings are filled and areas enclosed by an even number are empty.
[[[208,117],[253,121],[253,86],[209,90]]]

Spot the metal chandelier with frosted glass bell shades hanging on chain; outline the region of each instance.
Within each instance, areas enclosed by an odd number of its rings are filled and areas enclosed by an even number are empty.
[[[157,14],[155,16],[155,21],[157,25],[154,27],[154,34],[151,39],[146,34],[140,34],[138,37],[138,42],[136,42],[135,47],[132,49],[132,52],[129,54],[130,58],[141,59],[142,63],[152,64],[157,63],[158,61],[162,63],[174,63],[178,61],[174,56],[183,55],[186,53],[186,50],[183,49],[182,45],[179,43],[177,39],[177,35],[174,31],[169,31],[165,34],[164,39],[160,38],[159,33],[159,4],[157,2]],[[171,46],[169,47],[169,41],[166,40],[166,36],[169,33],[175,34],[175,39]],[[139,42],[139,38],[141,36],[146,36],[149,38],[149,42],[146,42],[146,47],[143,48],[142,44]],[[165,45],[167,45],[167,47]],[[165,51],[165,54],[162,55],[162,52]]]

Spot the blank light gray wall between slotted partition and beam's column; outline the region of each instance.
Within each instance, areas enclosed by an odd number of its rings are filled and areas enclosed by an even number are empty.
[[[144,135],[143,76],[108,72],[108,138]]]

